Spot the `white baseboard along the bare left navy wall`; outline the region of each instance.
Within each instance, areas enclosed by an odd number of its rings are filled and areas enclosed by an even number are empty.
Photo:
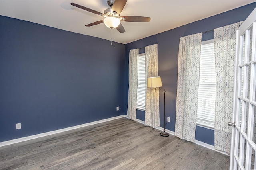
[[[122,117],[126,117],[126,116],[125,116],[125,115],[120,115],[120,116],[111,117],[111,118],[108,118],[108,119],[103,119],[103,120],[99,120],[99,121],[94,121],[94,122],[90,122],[90,123],[85,123],[85,124],[82,124],[82,125],[67,127],[67,128],[64,128],[64,129],[56,130],[56,131],[50,131],[50,132],[46,132],[46,133],[40,133],[40,134],[37,134],[37,135],[22,137],[22,138],[18,138],[18,139],[12,139],[12,140],[10,140],[10,141],[0,142],[0,147],[6,146],[6,145],[11,145],[11,144],[14,144],[14,143],[23,142],[23,141],[28,141],[28,140],[30,140],[30,139],[36,139],[36,138],[39,138],[39,137],[44,137],[44,136],[48,136],[48,135],[53,135],[53,134],[56,134],[56,133],[61,133],[61,132],[65,132],[65,131],[70,131],[70,130],[73,130],[73,129],[78,129],[78,128],[80,128],[80,127],[86,127],[86,126],[95,125],[95,124],[98,124],[98,123],[103,123],[103,122],[106,122],[106,121],[111,121],[111,120],[115,120],[115,119],[120,119],[120,118],[122,118]]]

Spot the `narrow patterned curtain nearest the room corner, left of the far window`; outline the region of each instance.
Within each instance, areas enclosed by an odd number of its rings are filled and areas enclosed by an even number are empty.
[[[130,50],[129,54],[129,92],[127,116],[136,120],[137,88],[138,88],[139,49]]]

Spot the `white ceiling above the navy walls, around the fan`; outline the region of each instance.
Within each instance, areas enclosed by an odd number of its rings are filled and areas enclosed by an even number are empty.
[[[104,23],[84,26],[102,20],[101,16],[71,2],[102,13],[109,8],[107,0],[0,0],[0,15],[111,40],[111,29]],[[126,32],[113,30],[113,41],[130,43],[252,2],[255,0],[128,0],[121,16],[147,16],[151,21],[122,22]]]

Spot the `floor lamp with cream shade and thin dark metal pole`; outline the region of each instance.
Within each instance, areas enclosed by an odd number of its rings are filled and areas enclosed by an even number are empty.
[[[165,131],[165,89],[160,89],[162,87],[161,77],[149,77],[148,85],[149,88],[155,88],[158,90],[164,90],[164,131],[161,131],[160,135],[164,137],[168,137],[169,133]]]

